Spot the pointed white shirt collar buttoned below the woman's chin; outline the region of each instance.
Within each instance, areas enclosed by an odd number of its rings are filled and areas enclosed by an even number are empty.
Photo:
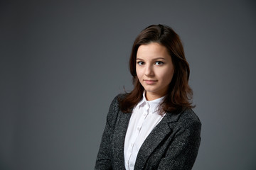
[[[146,92],[143,92],[143,97],[142,97],[142,101],[140,101],[138,103],[139,108],[145,106],[146,104],[149,104],[149,108],[150,108],[150,113],[155,113],[156,111],[159,110],[159,105],[161,104],[161,102],[164,100],[164,96],[162,96],[161,98],[156,98],[153,101],[147,101],[146,100],[146,96],[145,96]]]

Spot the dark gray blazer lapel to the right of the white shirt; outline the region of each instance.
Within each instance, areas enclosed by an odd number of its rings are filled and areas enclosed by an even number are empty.
[[[176,122],[179,115],[180,114],[174,115],[172,113],[166,113],[160,123],[156,125],[156,127],[151,131],[149,136],[146,137],[146,140],[142,144],[142,147],[139,149],[134,169],[143,169],[144,165],[146,164],[146,160],[148,159],[150,154],[159,145],[159,143],[164,140],[164,137],[171,133],[169,123]]]

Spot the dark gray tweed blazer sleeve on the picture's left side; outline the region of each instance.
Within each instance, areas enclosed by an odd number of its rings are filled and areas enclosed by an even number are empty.
[[[117,120],[117,113],[119,111],[117,98],[118,96],[116,96],[112,101],[107,114],[107,122],[102,135],[100,149],[97,154],[95,170],[112,169],[112,132],[114,130],[114,124]]]

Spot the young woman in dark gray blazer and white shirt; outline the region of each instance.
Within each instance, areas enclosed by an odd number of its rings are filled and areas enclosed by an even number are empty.
[[[178,35],[152,25],[137,36],[134,89],[110,105],[95,169],[192,169],[201,122],[191,110],[189,67]]]

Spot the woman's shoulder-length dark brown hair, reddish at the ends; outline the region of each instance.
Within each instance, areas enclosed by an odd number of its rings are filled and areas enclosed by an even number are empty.
[[[132,108],[142,100],[144,87],[139,83],[136,74],[137,50],[140,45],[146,45],[150,42],[157,42],[164,45],[171,56],[174,64],[174,76],[169,84],[169,89],[160,105],[160,114],[164,112],[178,113],[191,106],[193,91],[188,85],[190,69],[186,61],[183,45],[179,36],[169,26],[151,25],[137,36],[132,46],[132,54],[129,59],[129,70],[132,74],[134,89],[127,93],[123,98],[119,98],[120,110],[124,113],[130,113]]]

